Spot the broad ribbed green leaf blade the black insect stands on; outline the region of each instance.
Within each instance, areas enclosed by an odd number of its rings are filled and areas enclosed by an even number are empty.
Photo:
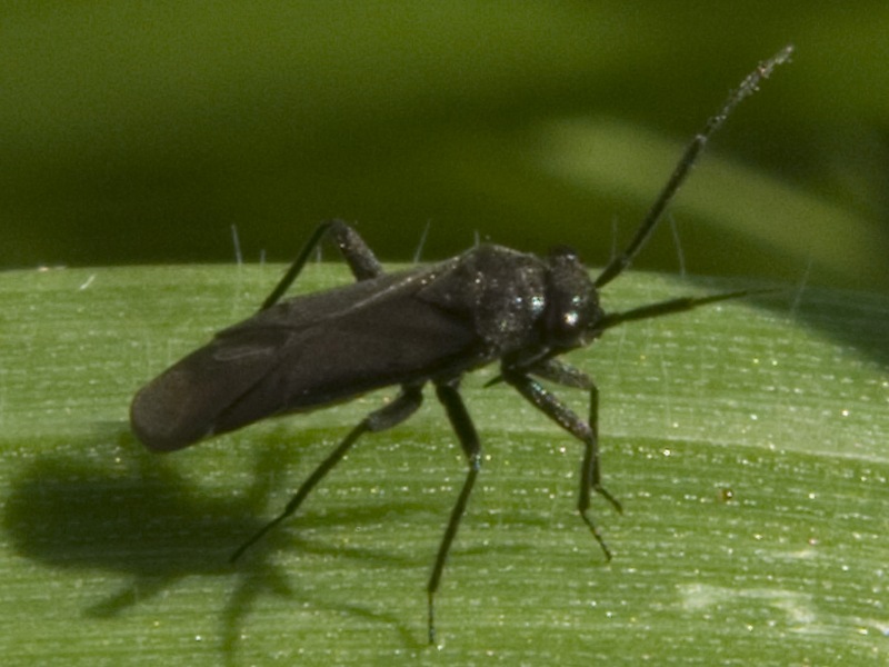
[[[509,388],[463,395],[487,457],[437,598],[466,465],[433,399],[364,437],[236,565],[390,392],[159,456],[132,394],[249,316],[279,267],[0,276],[4,665],[879,665],[889,534],[889,299],[822,289],[609,331],[610,564],[579,520],[580,448]],[[310,267],[299,290],[347,280]],[[737,281],[630,273],[621,310]],[[740,287],[749,287],[741,285]],[[560,389],[577,410],[582,392]]]

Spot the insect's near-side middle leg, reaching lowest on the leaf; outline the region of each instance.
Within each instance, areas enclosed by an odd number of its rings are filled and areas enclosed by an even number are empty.
[[[472,486],[476,484],[476,477],[481,469],[481,445],[479,444],[479,436],[476,432],[476,427],[472,425],[472,419],[467,412],[460,392],[457,390],[456,382],[436,385],[438,399],[444,406],[451,426],[457,434],[460,446],[463,448],[467,460],[469,462],[469,472],[466,476],[463,488],[457,502],[451,510],[450,519],[448,519],[448,527],[444,529],[444,535],[441,538],[441,544],[438,547],[438,556],[436,556],[436,564],[432,567],[432,575],[429,577],[427,593],[429,595],[429,644],[436,643],[436,615],[434,615],[434,596],[438,590],[438,585],[441,581],[441,573],[444,570],[444,561],[448,558],[451,542],[457,535],[457,528],[460,526],[460,519],[466,511],[469,496],[472,492]]]

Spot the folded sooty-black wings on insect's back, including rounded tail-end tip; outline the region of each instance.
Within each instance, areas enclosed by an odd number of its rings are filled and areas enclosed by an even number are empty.
[[[423,380],[472,358],[472,322],[419,296],[449,268],[298,297],[220,331],[137,394],[133,431],[151,449],[180,449],[272,415]]]

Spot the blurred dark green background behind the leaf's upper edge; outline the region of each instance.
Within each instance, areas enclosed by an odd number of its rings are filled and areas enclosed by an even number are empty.
[[[6,2],[0,268],[229,262],[232,226],[286,260],[330,217],[601,265],[788,42],[637,266],[889,291],[885,1]]]

